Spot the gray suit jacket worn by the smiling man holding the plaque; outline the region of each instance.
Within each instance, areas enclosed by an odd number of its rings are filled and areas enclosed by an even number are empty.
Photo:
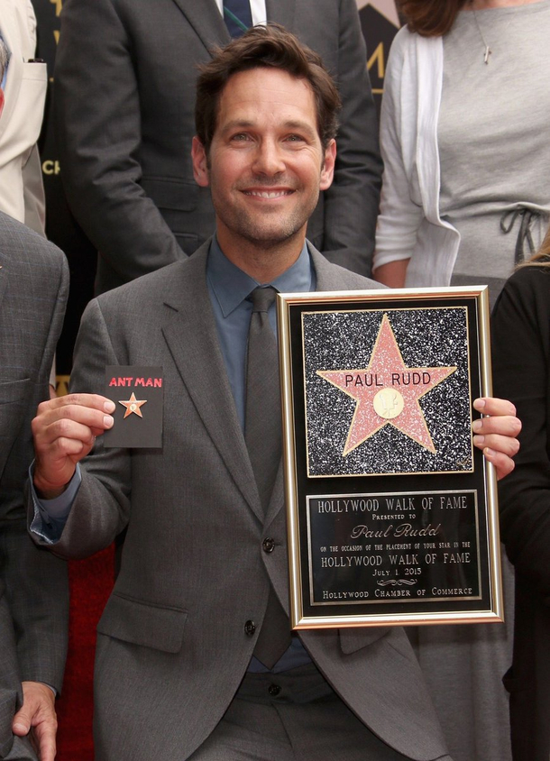
[[[217,341],[206,251],[91,302],[78,337],[74,390],[101,390],[108,364],[164,371],[162,449],[104,449],[98,440],[55,545],[60,555],[84,557],[128,528],[98,625],[98,761],[187,758],[243,678],[270,582],[289,609],[282,474],[264,521]],[[380,287],[312,256],[318,289]],[[270,555],[261,551],[264,536],[275,540]],[[380,738],[411,758],[445,756],[402,629],[300,637]]]

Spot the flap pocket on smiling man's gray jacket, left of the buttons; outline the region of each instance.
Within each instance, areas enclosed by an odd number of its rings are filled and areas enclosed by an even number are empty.
[[[133,645],[178,653],[183,641],[188,611],[142,602],[113,592],[97,631]]]

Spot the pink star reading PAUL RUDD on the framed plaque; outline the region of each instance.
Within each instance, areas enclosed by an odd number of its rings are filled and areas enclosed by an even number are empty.
[[[456,367],[407,367],[388,315],[384,315],[368,367],[362,370],[317,370],[318,375],[356,400],[344,457],[388,425],[435,454],[418,399],[455,370]]]

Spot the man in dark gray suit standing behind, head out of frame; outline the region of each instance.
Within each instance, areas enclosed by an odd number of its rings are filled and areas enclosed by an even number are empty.
[[[230,41],[224,17],[232,5],[63,5],[54,99],[61,177],[99,252],[98,293],[185,259],[212,234],[210,194],[194,182],[189,156],[196,66]],[[330,261],[368,275],[381,162],[355,0],[252,0],[244,11],[245,24],[268,19],[298,34],[338,80],[344,108],[335,181],[321,195],[308,237]]]

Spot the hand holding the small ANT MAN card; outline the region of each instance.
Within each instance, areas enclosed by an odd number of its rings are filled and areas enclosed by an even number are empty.
[[[34,488],[46,500],[58,497],[86,457],[96,436],[113,426],[115,402],[99,394],[69,394],[39,405],[32,420],[36,463]]]

